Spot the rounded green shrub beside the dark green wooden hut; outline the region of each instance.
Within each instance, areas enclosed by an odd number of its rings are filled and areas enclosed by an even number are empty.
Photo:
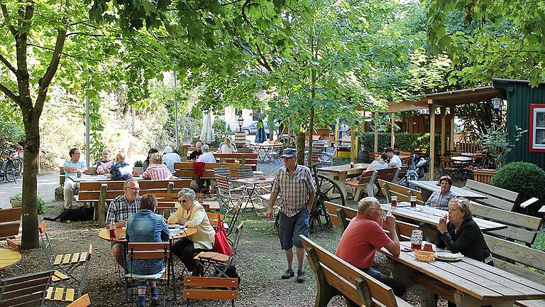
[[[500,168],[492,178],[492,185],[519,193],[515,208],[522,211],[520,203],[532,197],[539,201],[528,208],[528,214],[538,216],[537,210],[545,200],[545,171],[532,163],[512,162]]]

